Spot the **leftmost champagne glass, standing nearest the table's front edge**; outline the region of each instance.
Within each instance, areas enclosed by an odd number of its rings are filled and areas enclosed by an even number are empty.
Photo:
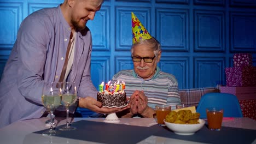
[[[61,105],[61,95],[63,82],[45,82],[43,86],[42,102],[46,110],[50,111],[50,130],[45,131],[43,135],[56,135],[53,128],[53,111]]]

